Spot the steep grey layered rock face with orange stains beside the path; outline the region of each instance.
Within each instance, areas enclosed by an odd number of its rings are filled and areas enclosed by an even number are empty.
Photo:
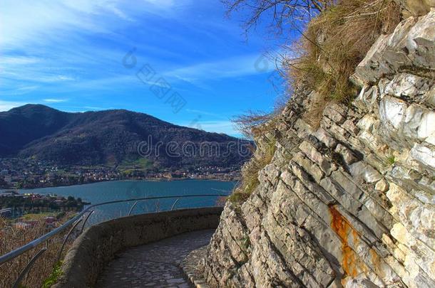
[[[260,185],[227,203],[203,259],[216,287],[435,287],[435,10],[381,36],[352,105],[319,129],[297,95]],[[264,146],[264,145],[263,145]]]

